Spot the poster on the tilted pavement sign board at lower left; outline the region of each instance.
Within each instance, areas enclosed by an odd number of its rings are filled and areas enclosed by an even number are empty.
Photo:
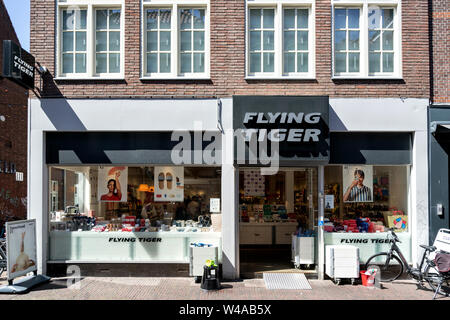
[[[6,223],[8,280],[37,270],[36,220]]]

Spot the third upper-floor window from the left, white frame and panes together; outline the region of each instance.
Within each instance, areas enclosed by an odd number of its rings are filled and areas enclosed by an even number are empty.
[[[247,10],[247,77],[313,78],[313,8],[292,2],[258,5],[252,2]]]

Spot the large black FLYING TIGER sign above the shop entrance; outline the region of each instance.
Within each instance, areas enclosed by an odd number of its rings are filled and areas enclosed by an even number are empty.
[[[234,130],[248,132],[247,139],[261,141],[267,137],[269,154],[271,138],[277,139],[281,165],[328,163],[328,114],[328,96],[233,97]],[[246,152],[249,145],[247,141]],[[235,162],[238,162],[237,148],[235,146]],[[246,160],[243,165],[248,164]]]

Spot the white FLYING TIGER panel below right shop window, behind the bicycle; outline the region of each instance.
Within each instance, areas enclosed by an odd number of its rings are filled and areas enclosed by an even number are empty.
[[[411,263],[411,234],[409,232],[396,233],[401,243],[397,246],[402,251],[405,259]],[[390,244],[387,241],[387,232],[376,233],[339,233],[325,232],[325,246],[327,245],[352,245],[359,248],[359,260],[361,264],[374,254],[389,251]]]

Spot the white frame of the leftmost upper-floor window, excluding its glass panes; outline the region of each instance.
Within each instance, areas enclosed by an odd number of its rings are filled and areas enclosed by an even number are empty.
[[[86,73],[62,73],[62,11],[86,9]],[[95,10],[120,9],[120,72],[96,73]],[[124,0],[58,0],[56,8],[55,80],[123,80],[125,78],[125,2]]]

